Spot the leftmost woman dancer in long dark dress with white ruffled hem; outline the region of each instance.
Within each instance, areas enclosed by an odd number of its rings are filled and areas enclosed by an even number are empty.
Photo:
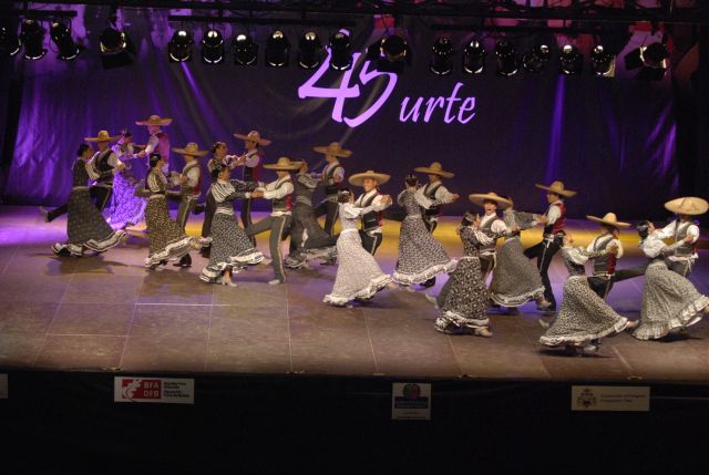
[[[66,221],[68,240],[52,246],[59,256],[82,257],[84,249],[104,252],[117,246],[126,237],[124,230],[113,230],[105,221],[101,211],[96,209],[89,193],[89,179],[107,177],[114,172],[99,172],[91,159],[91,145],[81,144],[76,151],[76,159],[72,165],[73,186],[66,205],[69,219]],[[115,171],[123,169],[122,163],[116,164]]]

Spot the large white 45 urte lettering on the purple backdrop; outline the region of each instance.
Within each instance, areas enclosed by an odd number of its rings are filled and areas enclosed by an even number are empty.
[[[394,73],[379,72],[377,71],[371,61],[360,61],[364,56],[362,53],[352,54],[352,68],[346,71],[338,86],[323,87],[319,86],[318,81],[322,79],[330,65],[331,53],[328,49],[327,59],[320,64],[320,68],[300,86],[298,87],[298,97],[318,97],[318,99],[332,99],[335,103],[332,105],[331,117],[335,122],[345,122],[350,127],[357,127],[370,120],[379,110],[387,103],[391,96],[399,78]],[[356,79],[354,70],[360,65],[359,74]],[[379,93],[378,97],[369,97],[368,94],[363,94],[364,86],[377,78],[386,78],[387,82],[383,90]],[[361,87],[360,87],[361,85]],[[474,116],[475,112],[475,97],[459,97],[459,93],[463,87],[463,83],[458,82],[453,86],[451,94],[445,96],[432,96],[432,97],[403,97],[400,104],[399,121],[400,122],[424,122],[429,123],[436,115],[440,115],[444,123],[450,124],[458,122],[461,124],[467,124]],[[348,100],[357,100],[363,97],[364,109],[360,111],[359,115],[353,117],[347,117],[343,115],[345,104]]]

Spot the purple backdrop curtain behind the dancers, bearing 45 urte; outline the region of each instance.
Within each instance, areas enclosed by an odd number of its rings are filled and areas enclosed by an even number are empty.
[[[391,173],[392,180],[383,188],[392,194],[413,167],[439,161],[456,174],[448,182],[451,190],[508,194],[522,209],[541,209],[543,196],[534,183],[554,179],[579,192],[569,200],[574,216],[613,210],[620,218],[639,218],[657,214],[674,196],[675,118],[668,81],[639,82],[621,70],[614,79],[567,78],[556,74],[554,63],[541,75],[505,79],[489,71],[466,76],[460,72],[459,56],[454,73],[439,78],[427,65],[433,33],[410,25],[413,65],[395,84],[389,75],[373,78],[371,65],[362,71],[366,64],[360,58],[349,74],[349,97],[300,99],[299,91],[308,93],[301,86],[317,72],[297,68],[292,53],[288,69],[264,66],[265,28],[253,31],[261,44],[258,66],[235,66],[230,55],[225,64],[204,65],[198,49],[192,63],[171,64],[167,12],[131,11],[123,22],[138,49],[137,60],[132,66],[106,71],[96,42],[107,10],[79,8],[79,12],[74,34],[86,39],[89,49],[78,61],[59,62],[52,52],[38,62],[16,60],[13,74],[23,85],[4,190],[8,202],[64,202],[70,164],[82,137],[130,126],[136,142],[144,143],[145,127],[133,124],[154,113],[174,118],[166,127],[173,146],[195,141],[208,147],[225,141],[232,153],[242,153],[242,143],[232,134],[258,130],[274,141],[265,148],[267,162],[287,155],[316,165],[321,156],[312,146],[340,141],[354,152],[343,161],[348,175],[368,168]],[[197,41],[202,31],[201,27],[195,31]],[[301,31],[285,29],[294,45]],[[327,29],[318,32],[329,34]],[[379,34],[371,23],[358,24],[353,31],[358,51]],[[465,37],[453,39],[463,44]],[[489,47],[492,41],[487,40]],[[333,87],[342,76],[327,72],[315,85]],[[460,100],[445,101],[455,89]],[[338,90],[323,91],[332,95]],[[422,104],[413,122],[411,109],[419,97]],[[429,100],[438,106],[427,122]],[[333,118],[338,103],[342,122]],[[380,104],[369,118],[356,118]],[[172,166],[179,163],[173,154]],[[461,200],[446,213],[460,214],[469,205]]]

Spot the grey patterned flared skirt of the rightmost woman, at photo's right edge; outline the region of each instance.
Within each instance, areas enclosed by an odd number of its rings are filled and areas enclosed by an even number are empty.
[[[645,271],[640,324],[633,335],[639,340],[662,338],[672,330],[697,323],[707,309],[709,297],[699,293],[689,280],[669,270],[661,260],[654,261]]]

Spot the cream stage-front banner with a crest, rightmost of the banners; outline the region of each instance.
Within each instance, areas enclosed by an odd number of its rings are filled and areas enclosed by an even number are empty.
[[[572,411],[650,410],[650,386],[572,386]]]

